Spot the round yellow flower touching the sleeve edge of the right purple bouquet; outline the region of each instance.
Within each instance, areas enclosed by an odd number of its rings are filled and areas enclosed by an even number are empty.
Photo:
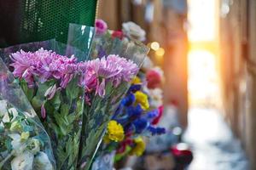
[[[108,122],[107,130],[104,138],[105,143],[109,143],[109,140],[120,142],[125,138],[124,128],[116,121]]]

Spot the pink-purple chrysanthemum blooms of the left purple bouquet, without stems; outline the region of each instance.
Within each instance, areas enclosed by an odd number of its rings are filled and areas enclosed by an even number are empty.
[[[24,78],[29,87],[33,86],[34,78],[37,77],[40,82],[52,78],[61,80],[61,88],[66,88],[77,70],[77,59],[74,56],[67,58],[44,48],[34,53],[20,50],[11,54],[10,58],[14,61],[11,64],[15,68],[14,76]]]

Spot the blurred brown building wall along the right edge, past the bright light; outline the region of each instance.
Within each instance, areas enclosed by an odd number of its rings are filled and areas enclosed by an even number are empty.
[[[228,6],[228,14],[220,10],[219,30],[225,117],[256,169],[256,1]]]

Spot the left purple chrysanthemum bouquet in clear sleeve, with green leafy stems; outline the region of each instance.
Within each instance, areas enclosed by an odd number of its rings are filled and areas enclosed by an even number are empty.
[[[6,61],[11,58],[10,68],[49,134],[56,168],[76,169],[84,88],[78,86],[73,54],[80,58],[85,54],[55,40],[6,48],[3,54]]]

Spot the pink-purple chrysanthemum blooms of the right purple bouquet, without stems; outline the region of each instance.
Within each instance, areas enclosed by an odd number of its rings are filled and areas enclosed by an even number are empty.
[[[108,82],[113,83],[115,88],[120,82],[130,82],[136,76],[138,67],[131,60],[118,55],[108,55],[107,58],[93,59],[79,64],[79,71],[82,72],[79,85],[85,86],[87,91],[95,88],[96,94],[103,97]]]

